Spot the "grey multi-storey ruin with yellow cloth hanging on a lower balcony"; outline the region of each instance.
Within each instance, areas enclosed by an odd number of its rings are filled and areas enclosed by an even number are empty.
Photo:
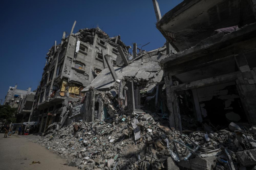
[[[41,122],[43,132],[69,110],[73,102],[82,99],[81,90],[107,67],[104,56],[116,65],[118,46],[128,55],[127,47],[120,36],[109,37],[100,28],[80,29],[49,49],[42,79],[36,93],[33,121]]]

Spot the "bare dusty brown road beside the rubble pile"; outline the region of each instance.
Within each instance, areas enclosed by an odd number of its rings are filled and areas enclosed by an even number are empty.
[[[67,163],[65,159],[31,142],[38,136],[3,136],[0,133],[0,170],[77,170],[77,167],[63,165]],[[32,161],[40,161],[41,164],[30,165]]]

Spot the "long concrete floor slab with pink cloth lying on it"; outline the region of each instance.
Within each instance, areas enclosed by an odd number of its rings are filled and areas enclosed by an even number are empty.
[[[195,63],[199,65],[255,48],[255,38],[256,23],[253,23],[226,35],[220,33],[209,37],[190,49],[163,59],[160,64],[170,68],[168,72],[184,73],[184,70],[194,70]],[[245,40],[250,40],[250,45],[244,44]]]

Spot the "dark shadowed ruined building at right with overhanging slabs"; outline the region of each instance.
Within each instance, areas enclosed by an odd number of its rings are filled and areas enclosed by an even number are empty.
[[[157,22],[178,53],[160,62],[170,126],[256,125],[256,1],[184,0]],[[158,15],[159,7],[156,8]]]

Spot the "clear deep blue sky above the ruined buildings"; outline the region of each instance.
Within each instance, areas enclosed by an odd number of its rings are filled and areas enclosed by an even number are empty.
[[[158,0],[161,14],[182,0]],[[9,86],[35,90],[41,80],[48,49],[60,43],[63,31],[99,25],[110,37],[121,35],[126,45],[159,48],[165,39],[155,28],[152,0],[5,0],[0,6],[0,99]],[[138,46],[140,47],[140,46]],[[3,102],[2,102],[3,104]]]

